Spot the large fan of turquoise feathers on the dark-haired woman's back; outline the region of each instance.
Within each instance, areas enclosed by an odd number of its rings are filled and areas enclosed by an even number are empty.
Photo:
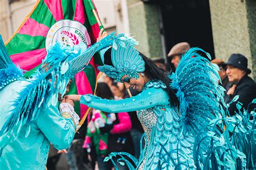
[[[206,55],[205,57],[203,55]],[[191,48],[182,56],[176,72],[170,78],[171,88],[177,91],[180,102],[179,111],[184,122],[184,132],[191,131],[195,135],[215,116],[224,110],[224,88],[218,85],[219,67],[211,64],[210,54],[200,48]]]

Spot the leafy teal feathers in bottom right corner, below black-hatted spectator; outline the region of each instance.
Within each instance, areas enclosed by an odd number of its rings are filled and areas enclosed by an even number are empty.
[[[237,100],[238,97],[235,97],[233,102]],[[240,106],[238,110],[239,112],[232,117],[223,115],[213,119],[208,125],[213,130],[207,134],[203,131],[196,138],[193,152],[198,167],[255,168],[256,114],[255,111],[249,112]],[[211,146],[206,147],[204,143],[211,143]],[[218,162],[219,166],[216,166],[215,162]]]

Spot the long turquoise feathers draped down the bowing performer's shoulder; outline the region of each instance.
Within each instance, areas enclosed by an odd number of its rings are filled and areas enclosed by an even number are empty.
[[[3,137],[3,140],[0,141],[0,151],[10,141],[15,140],[19,136],[19,132],[25,127],[26,136],[28,136],[30,124],[37,118],[38,110],[42,105],[57,103],[57,98],[55,100],[55,96],[53,96],[55,94],[52,88],[54,84],[46,79],[49,75],[37,71],[32,75],[31,80],[26,80],[28,83],[24,84],[24,89],[12,101],[14,109],[0,130],[0,137]]]

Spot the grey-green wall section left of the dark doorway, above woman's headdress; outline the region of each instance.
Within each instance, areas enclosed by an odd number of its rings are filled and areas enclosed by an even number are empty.
[[[136,48],[146,56],[163,57],[157,5],[127,0],[130,32],[139,41]]]

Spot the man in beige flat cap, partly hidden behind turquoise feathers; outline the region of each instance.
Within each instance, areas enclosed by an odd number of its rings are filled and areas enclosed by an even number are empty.
[[[178,44],[174,45],[167,54],[175,69],[178,66],[181,56],[187,52],[188,49],[190,49],[190,45],[187,42],[179,42]]]

